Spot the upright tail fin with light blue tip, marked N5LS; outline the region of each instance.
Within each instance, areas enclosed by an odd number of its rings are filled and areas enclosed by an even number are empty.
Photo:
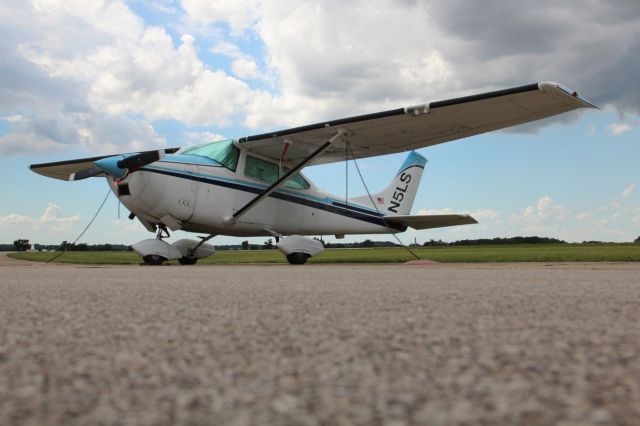
[[[385,216],[408,215],[416,198],[426,163],[426,158],[411,151],[389,186],[383,191],[371,194],[375,206],[371,205],[368,195],[352,198],[350,201],[376,208]]]

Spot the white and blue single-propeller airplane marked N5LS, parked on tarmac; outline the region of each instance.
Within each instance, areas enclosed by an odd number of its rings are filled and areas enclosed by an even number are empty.
[[[291,264],[324,250],[310,235],[395,234],[477,223],[466,214],[411,215],[427,160],[415,150],[566,113],[597,108],[577,92],[540,82],[181,148],[32,164],[41,175],[106,177],[155,238],[132,246],[146,264],[192,265],[217,235],[273,236]],[[346,198],[320,190],[309,165],[410,151],[380,192]],[[367,190],[368,191],[368,190]],[[169,244],[169,230],[206,234]]]

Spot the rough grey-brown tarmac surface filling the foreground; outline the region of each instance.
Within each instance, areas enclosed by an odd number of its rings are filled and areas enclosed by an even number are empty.
[[[0,261],[0,424],[637,425],[640,264]]]

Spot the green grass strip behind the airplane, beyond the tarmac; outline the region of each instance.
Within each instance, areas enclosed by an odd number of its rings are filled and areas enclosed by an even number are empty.
[[[518,244],[419,247],[421,259],[437,262],[638,262],[640,244]],[[15,259],[44,262],[54,253],[12,253]],[[401,263],[414,258],[403,248],[327,249],[309,263]],[[138,264],[133,252],[67,252],[55,263]],[[171,263],[176,263],[173,261]],[[279,250],[225,250],[200,264],[286,263]]]

